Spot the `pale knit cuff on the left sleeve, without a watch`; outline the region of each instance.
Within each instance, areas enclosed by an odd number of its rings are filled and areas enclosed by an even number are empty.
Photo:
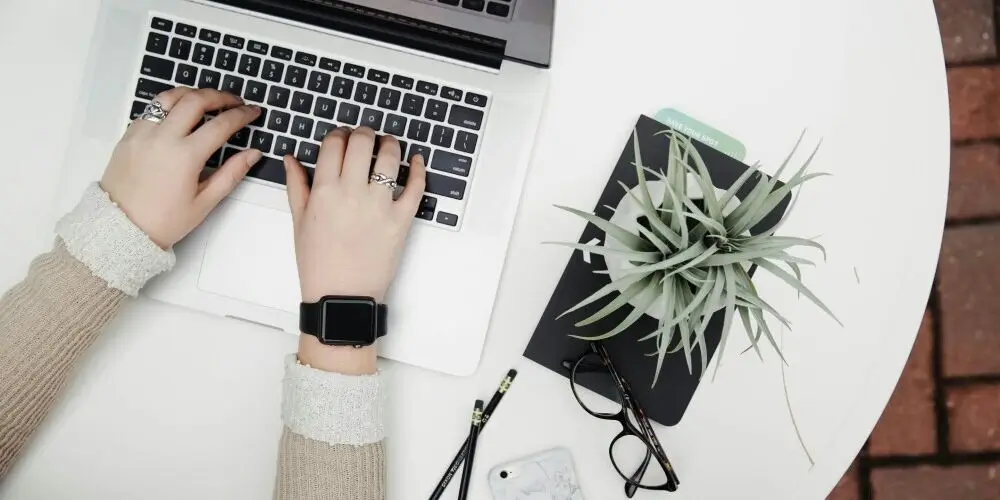
[[[174,267],[173,250],[153,243],[96,182],[56,224],[70,255],[108,286],[135,296],[151,278]]]

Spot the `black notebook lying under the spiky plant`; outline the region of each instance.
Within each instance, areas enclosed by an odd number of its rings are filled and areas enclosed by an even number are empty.
[[[635,125],[634,134],[638,134],[640,153],[645,166],[652,169],[666,169],[670,138],[669,135],[655,134],[669,129],[668,126],[647,116],[639,118]],[[626,196],[619,181],[629,188],[638,184],[636,169],[632,165],[634,161],[632,140],[632,137],[629,137],[629,141],[622,150],[621,157],[608,179],[604,192],[594,207],[593,213],[602,218],[610,218],[612,211],[607,207],[618,206],[622,197]],[[720,189],[728,189],[749,168],[742,162],[698,141],[693,141],[693,143],[708,167],[712,183]],[[757,177],[757,179],[757,182],[761,181],[761,177]],[[737,193],[737,197],[742,199],[750,193],[755,185],[756,182],[753,180],[747,181]],[[773,212],[751,229],[751,233],[757,234],[778,224],[788,209],[790,201],[791,196],[782,200]],[[574,208],[585,210],[585,207]],[[558,209],[552,208],[552,210]],[[575,216],[566,213],[566,217]],[[593,224],[588,223],[579,242],[589,243],[594,240],[603,241],[603,239],[604,233]],[[590,304],[561,319],[556,319],[564,311],[610,282],[606,274],[594,273],[595,269],[606,269],[603,257],[590,254],[587,258],[590,263],[584,260],[584,254],[580,251],[574,251],[570,256],[562,278],[556,285],[555,292],[552,294],[552,298],[549,300],[549,304],[546,306],[545,312],[535,328],[535,333],[524,352],[524,355],[529,359],[565,377],[569,376],[569,370],[562,366],[563,360],[575,360],[587,350],[586,341],[571,338],[569,335],[596,336],[606,333],[632,311],[632,307],[626,305],[597,323],[585,327],[574,326],[576,322],[590,316],[609,302],[614,297],[612,294],[595,304]],[[708,342],[710,360],[722,335],[722,323],[723,314],[720,311],[712,317],[706,331],[705,338]],[[663,362],[659,381],[655,387],[652,387],[656,357],[646,356],[646,354],[655,350],[655,343],[653,341],[643,343],[637,341],[656,328],[657,320],[651,316],[643,315],[628,330],[611,339],[604,340],[603,344],[610,353],[617,370],[629,381],[649,418],[664,425],[676,425],[680,422],[692,396],[694,396],[695,389],[698,387],[700,354],[697,350],[693,353],[693,374],[688,373],[687,361],[683,353],[668,354]],[[738,351],[730,350],[728,355],[738,355]],[[724,376],[724,374],[725,370],[719,376]],[[710,378],[711,373],[705,377],[705,380]],[[606,386],[595,385],[588,386],[588,388],[606,397],[614,398],[615,389],[610,381]]]

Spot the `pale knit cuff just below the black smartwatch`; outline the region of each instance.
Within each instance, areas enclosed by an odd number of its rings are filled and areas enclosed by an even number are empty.
[[[361,446],[381,441],[385,395],[382,377],[343,375],[285,359],[281,413],[292,432],[329,444]]]

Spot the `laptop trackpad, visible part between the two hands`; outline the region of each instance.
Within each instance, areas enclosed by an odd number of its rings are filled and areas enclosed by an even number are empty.
[[[212,218],[198,288],[298,312],[291,214],[230,198]]]

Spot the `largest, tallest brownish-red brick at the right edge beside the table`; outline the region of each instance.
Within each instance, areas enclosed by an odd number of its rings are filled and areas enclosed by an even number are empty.
[[[1000,224],[945,230],[939,278],[944,374],[1000,374]]]

